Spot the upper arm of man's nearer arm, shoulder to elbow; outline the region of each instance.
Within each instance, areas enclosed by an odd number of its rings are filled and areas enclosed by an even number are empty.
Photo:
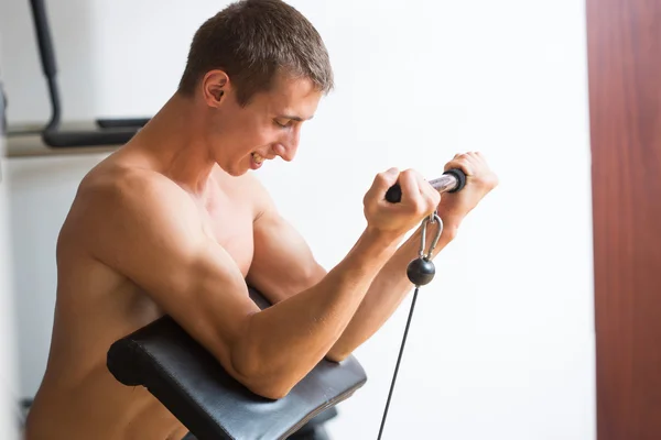
[[[145,292],[228,369],[250,300],[231,257],[202,231],[195,207],[162,188],[111,195],[94,254]]]

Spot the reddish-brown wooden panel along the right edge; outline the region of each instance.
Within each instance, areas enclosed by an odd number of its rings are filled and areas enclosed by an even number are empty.
[[[598,440],[661,439],[661,0],[587,0]]]

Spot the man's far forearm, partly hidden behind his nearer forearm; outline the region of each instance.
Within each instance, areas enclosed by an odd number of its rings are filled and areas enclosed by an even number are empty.
[[[425,252],[430,249],[430,244],[435,237],[436,227],[436,224],[427,226]],[[456,229],[454,226],[444,228],[432,257],[436,256],[454,239]],[[327,353],[328,359],[342,361],[348,356],[381,328],[411,292],[413,285],[407,276],[407,266],[419,256],[421,235],[422,231],[419,228],[400,246],[390,261],[383,265],[370,285],[354,318]]]

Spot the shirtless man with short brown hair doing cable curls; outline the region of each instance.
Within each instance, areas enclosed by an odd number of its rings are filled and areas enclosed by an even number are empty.
[[[251,170],[294,158],[332,86],[322,38],[281,1],[235,3],[203,24],[178,90],[83,179],[62,228],[51,353],[28,440],[182,439],[158,400],[106,367],[112,342],[163,314],[269,398],[323,358],[345,359],[392,315],[412,289],[405,267],[420,235],[408,232],[438,209],[440,252],[497,178],[479,153],[445,165],[467,184],[443,201],[413,170],[377,175],[364,232],[326,272]],[[389,204],[398,180],[402,201]],[[247,283],[273,306],[260,311]]]

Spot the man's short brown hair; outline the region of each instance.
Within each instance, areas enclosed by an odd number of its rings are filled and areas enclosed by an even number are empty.
[[[323,94],[333,89],[324,42],[296,9],[281,0],[240,0],[208,19],[195,33],[178,91],[192,96],[198,81],[223,69],[246,106],[271,89],[280,73],[310,79]]]

